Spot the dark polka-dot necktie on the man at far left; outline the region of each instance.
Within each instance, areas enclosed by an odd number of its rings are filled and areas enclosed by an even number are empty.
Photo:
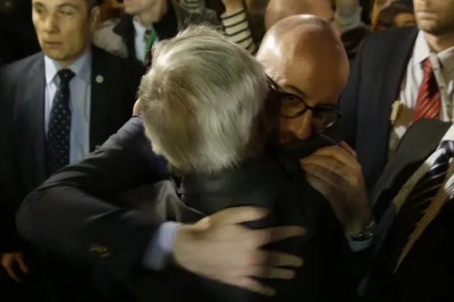
[[[48,176],[70,163],[70,80],[74,77],[74,72],[70,69],[61,69],[58,77],[60,85],[52,102],[48,126],[46,156]]]

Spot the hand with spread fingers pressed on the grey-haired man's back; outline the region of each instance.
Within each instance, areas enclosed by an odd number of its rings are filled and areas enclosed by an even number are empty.
[[[228,208],[179,228],[173,258],[179,266],[206,278],[239,286],[265,295],[275,293],[253,277],[292,279],[292,269],[301,267],[299,257],[261,250],[270,242],[297,237],[304,230],[297,226],[250,230],[239,223],[258,220],[266,211],[254,207]]]

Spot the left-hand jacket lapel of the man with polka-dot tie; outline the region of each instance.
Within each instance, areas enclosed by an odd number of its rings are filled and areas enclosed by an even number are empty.
[[[23,102],[28,104],[28,123],[30,123],[31,141],[33,141],[33,153],[37,167],[37,176],[40,181],[45,180],[45,127],[44,127],[44,106],[45,106],[45,72],[44,57],[38,56],[35,64],[28,74],[24,83]],[[38,182],[40,182],[38,181]]]

